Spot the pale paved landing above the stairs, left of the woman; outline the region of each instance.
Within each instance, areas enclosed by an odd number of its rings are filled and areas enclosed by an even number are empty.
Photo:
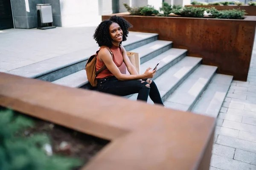
[[[97,23],[53,29],[0,30],[0,72],[96,46]],[[84,54],[86,55],[86,54]]]

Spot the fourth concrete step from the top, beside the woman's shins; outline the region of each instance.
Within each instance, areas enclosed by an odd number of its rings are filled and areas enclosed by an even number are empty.
[[[175,89],[201,64],[202,59],[198,57],[184,57],[167,71],[154,79],[157,84],[163,102],[172,94]],[[128,99],[136,100],[138,94],[134,94]],[[148,103],[153,104],[148,98]]]

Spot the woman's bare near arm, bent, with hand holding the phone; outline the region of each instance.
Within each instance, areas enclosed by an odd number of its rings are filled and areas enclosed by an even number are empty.
[[[141,75],[128,75],[128,74],[122,74],[119,70],[119,68],[116,66],[116,64],[113,62],[112,56],[108,49],[102,48],[99,53],[98,57],[100,60],[104,62],[104,64],[107,66],[108,70],[119,80],[135,80],[135,79],[148,79],[152,78],[156,72],[150,71],[151,68],[148,68],[144,74]]]

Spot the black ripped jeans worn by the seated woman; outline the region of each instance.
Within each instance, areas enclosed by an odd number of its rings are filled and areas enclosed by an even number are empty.
[[[108,77],[105,79],[97,79],[98,91],[113,94],[117,96],[127,96],[138,93],[137,100],[147,101],[148,96],[156,103],[163,105],[157,85],[150,80],[150,84],[146,82],[147,79],[120,81],[116,77]]]

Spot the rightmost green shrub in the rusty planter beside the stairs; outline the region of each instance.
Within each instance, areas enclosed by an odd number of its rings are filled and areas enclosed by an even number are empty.
[[[245,10],[230,9],[218,11],[214,7],[207,9],[207,13],[210,13],[210,17],[219,19],[243,19],[243,16],[247,14]]]

